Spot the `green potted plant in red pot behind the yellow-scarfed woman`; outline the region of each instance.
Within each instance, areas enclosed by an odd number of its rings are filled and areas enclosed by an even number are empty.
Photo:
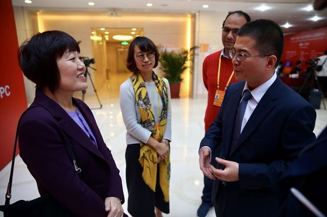
[[[183,80],[182,74],[189,68],[187,61],[193,61],[194,50],[196,48],[194,46],[189,50],[182,49],[180,51],[162,49],[160,52],[159,69],[165,73],[165,78],[169,81],[172,98],[180,97],[181,81]]]

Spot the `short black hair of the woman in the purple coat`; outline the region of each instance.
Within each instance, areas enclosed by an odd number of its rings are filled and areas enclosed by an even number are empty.
[[[37,33],[20,46],[19,65],[36,87],[48,87],[53,93],[60,83],[57,59],[66,51],[80,53],[78,43],[67,33],[57,30]]]

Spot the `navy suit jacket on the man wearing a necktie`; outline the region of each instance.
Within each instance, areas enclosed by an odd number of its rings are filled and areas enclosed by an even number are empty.
[[[212,197],[218,216],[276,216],[277,181],[299,152],[315,140],[312,131],[316,113],[277,77],[252,113],[235,150],[230,151],[244,85],[229,85],[220,113],[200,148],[209,146],[214,150],[220,146],[218,157],[239,163],[239,181],[214,181]]]

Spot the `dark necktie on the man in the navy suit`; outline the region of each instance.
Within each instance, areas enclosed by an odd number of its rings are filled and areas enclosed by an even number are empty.
[[[248,100],[251,99],[251,97],[252,97],[251,92],[247,89],[244,90],[242,100],[237,107],[237,114],[236,114],[236,118],[235,118],[233,137],[232,137],[229,153],[232,153],[234,151],[234,149],[236,148],[236,143],[239,138],[240,129],[242,126],[243,116],[244,116],[245,110],[247,108]]]

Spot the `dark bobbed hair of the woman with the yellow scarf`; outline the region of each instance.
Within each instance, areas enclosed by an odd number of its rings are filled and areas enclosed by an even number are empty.
[[[154,52],[155,62],[154,62],[153,68],[155,68],[158,65],[158,60],[159,60],[158,49],[156,48],[155,44],[149,38],[146,38],[144,36],[137,36],[132,41],[132,43],[129,45],[129,48],[128,48],[127,61],[126,61],[127,69],[133,73],[137,72],[137,67],[136,67],[136,63],[134,60],[135,45],[137,45],[142,52],[148,52],[148,51]]]

